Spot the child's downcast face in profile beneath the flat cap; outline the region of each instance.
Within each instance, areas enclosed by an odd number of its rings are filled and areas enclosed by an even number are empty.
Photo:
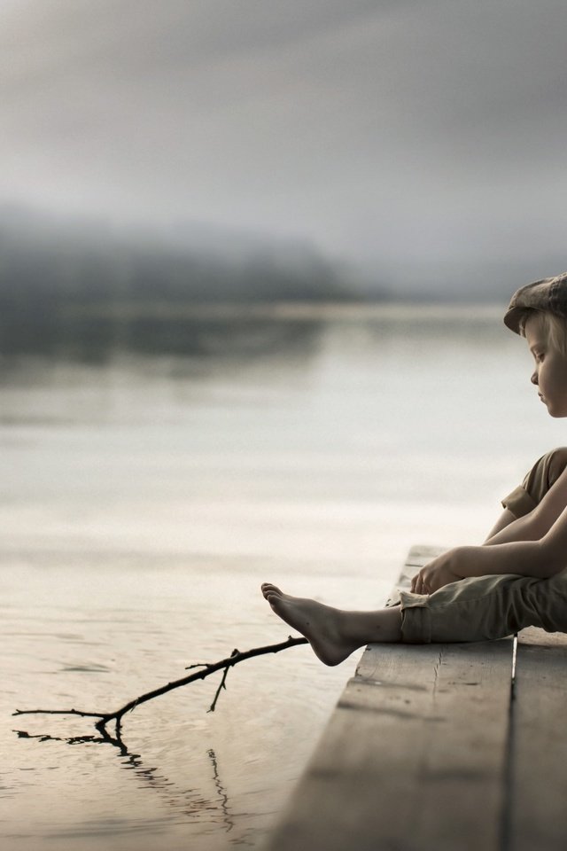
[[[548,333],[538,316],[530,316],[525,324],[525,339],[535,361],[532,384],[548,407],[551,417],[567,417],[567,355],[548,340]]]

